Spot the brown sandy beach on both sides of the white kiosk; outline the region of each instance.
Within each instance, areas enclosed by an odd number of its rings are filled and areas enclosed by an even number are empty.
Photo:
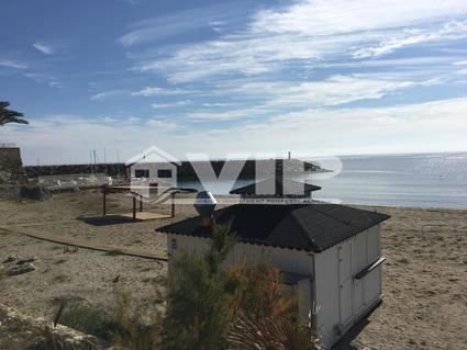
[[[391,215],[382,227],[383,303],[347,335],[338,349],[463,349],[467,347],[467,211],[409,207],[364,207]],[[99,224],[101,194],[97,191],[54,195],[43,202],[0,202],[0,226],[19,233],[149,249],[162,257],[166,237],[155,229],[196,215],[177,206],[176,217],[125,224]],[[110,213],[131,211],[131,199],[109,196]],[[169,213],[169,205],[148,208]],[[165,262],[109,255],[0,230],[0,260],[36,257],[36,270],[10,276],[0,303],[51,317],[67,300],[111,309],[119,289],[141,305],[152,305],[167,274]],[[119,281],[114,279],[120,275]]]

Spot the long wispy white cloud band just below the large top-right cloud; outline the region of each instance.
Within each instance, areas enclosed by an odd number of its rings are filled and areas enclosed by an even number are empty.
[[[220,86],[222,95],[235,98],[242,103],[202,104],[188,112],[190,120],[231,121],[257,118],[277,115],[287,110],[335,106],[344,103],[376,100],[386,94],[402,91],[416,84],[434,84],[437,81],[414,82],[394,79],[393,76],[367,74],[332,76],[322,81],[249,81],[227,82]],[[254,99],[248,101],[248,99]],[[236,109],[212,109],[212,106],[232,106]],[[252,106],[253,105],[253,106]],[[171,106],[171,105],[166,105]],[[203,109],[204,108],[204,109]]]

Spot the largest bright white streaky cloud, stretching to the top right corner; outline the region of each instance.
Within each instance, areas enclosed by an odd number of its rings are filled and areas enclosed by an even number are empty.
[[[409,45],[467,36],[467,2],[446,0],[313,0],[258,12],[252,23],[219,39],[141,58],[142,71],[171,82],[265,75],[297,63],[320,66],[334,57],[390,54]],[[162,57],[163,56],[163,57]]]

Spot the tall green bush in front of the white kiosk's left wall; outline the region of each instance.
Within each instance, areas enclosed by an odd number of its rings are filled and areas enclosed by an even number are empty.
[[[204,256],[184,253],[176,260],[164,321],[165,349],[227,348],[232,293],[221,263],[234,242],[230,225],[218,225]]]

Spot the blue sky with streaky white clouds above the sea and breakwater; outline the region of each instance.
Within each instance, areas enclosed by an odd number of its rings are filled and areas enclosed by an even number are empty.
[[[467,150],[467,1],[2,1],[27,165]]]

